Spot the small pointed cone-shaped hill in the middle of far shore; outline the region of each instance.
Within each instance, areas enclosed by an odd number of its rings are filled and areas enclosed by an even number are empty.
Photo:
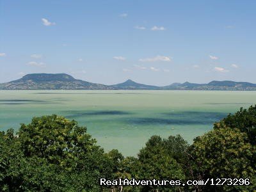
[[[159,86],[140,84],[128,79],[124,83],[113,84],[112,87],[118,90],[159,90]]]

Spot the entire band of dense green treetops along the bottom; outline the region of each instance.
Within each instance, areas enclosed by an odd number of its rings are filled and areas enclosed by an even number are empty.
[[[35,117],[0,132],[0,191],[253,191],[256,106],[214,124],[192,145],[152,136],[138,157],[105,153],[86,127],[61,116]],[[99,186],[106,179],[250,179],[249,186]]]

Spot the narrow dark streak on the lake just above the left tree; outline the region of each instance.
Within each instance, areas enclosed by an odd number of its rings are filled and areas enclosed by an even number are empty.
[[[65,113],[72,113],[65,115],[67,118],[75,118],[79,116],[93,116],[93,115],[129,115],[131,113],[125,111],[64,111]]]

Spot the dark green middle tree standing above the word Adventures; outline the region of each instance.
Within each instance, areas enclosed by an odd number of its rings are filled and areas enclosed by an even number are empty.
[[[146,147],[140,150],[138,160],[140,162],[140,179],[157,180],[184,180],[185,174],[181,164],[173,158],[170,140],[163,140],[160,136],[152,136],[146,143]],[[175,141],[175,140],[172,140]],[[168,144],[168,145],[166,145]],[[141,191],[161,189],[164,191],[176,191],[175,186],[143,186]]]

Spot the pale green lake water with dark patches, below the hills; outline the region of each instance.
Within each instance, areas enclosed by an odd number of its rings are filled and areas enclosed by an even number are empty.
[[[157,134],[193,138],[239,108],[256,104],[256,92],[138,90],[0,90],[0,131],[18,130],[33,116],[57,114],[86,125],[106,151],[136,156]]]

